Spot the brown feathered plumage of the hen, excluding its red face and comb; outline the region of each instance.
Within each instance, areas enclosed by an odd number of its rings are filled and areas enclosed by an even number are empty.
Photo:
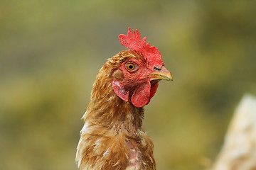
[[[139,55],[124,50],[110,58],[93,84],[76,154],[81,170],[156,169],[153,143],[142,130],[144,109],[123,101],[112,89],[112,80],[123,78],[117,68],[129,57]]]

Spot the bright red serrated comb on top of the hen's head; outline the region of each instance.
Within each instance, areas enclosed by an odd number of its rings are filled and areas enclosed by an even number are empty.
[[[159,50],[149,43],[146,43],[146,37],[142,39],[139,30],[135,30],[132,33],[131,28],[128,28],[127,35],[120,34],[118,37],[120,44],[129,48],[129,50],[141,53],[147,62],[161,61],[161,53]]]

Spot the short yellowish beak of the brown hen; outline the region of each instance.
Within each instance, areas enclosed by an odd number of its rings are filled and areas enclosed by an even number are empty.
[[[171,73],[165,67],[157,70],[156,72],[152,72],[146,75],[146,78],[149,77],[150,80],[173,80]]]

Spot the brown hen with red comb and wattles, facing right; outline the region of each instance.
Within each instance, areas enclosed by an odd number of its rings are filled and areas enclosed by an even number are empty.
[[[82,119],[76,162],[81,170],[156,169],[153,143],[142,130],[143,106],[159,81],[171,80],[156,47],[138,30],[119,35],[123,50],[100,69]]]

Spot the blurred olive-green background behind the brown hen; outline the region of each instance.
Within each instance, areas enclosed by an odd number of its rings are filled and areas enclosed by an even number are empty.
[[[174,81],[145,107],[160,170],[203,169],[256,94],[256,1],[15,1],[0,6],[0,169],[77,169],[92,83],[130,26]]]

